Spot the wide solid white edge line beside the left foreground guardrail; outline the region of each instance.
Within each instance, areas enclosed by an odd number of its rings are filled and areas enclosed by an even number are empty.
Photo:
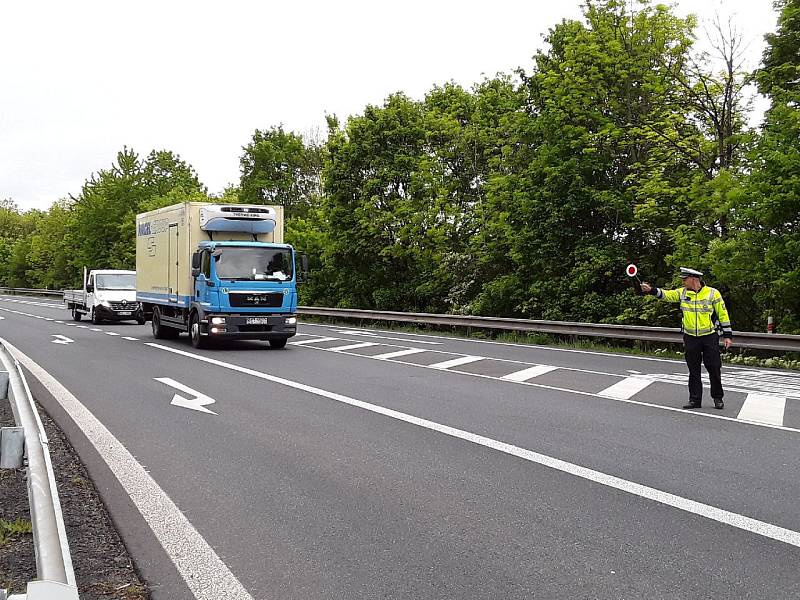
[[[153,530],[197,600],[253,600],[166,492],[69,390],[17,348],[3,341],[64,408],[95,447]]]

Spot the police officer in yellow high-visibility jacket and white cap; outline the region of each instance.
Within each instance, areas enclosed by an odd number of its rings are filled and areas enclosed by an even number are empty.
[[[700,408],[703,399],[703,383],[700,379],[700,362],[706,366],[711,380],[711,397],[714,408],[723,409],[722,359],[719,354],[719,335],[714,321],[722,327],[725,348],[733,345],[733,330],[725,301],[718,290],[709,287],[701,279],[703,274],[695,269],[681,267],[683,288],[662,290],[649,283],[642,283],[645,294],[667,302],[680,302],[683,313],[683,343],[686,348],[686,364],[689,367],[689,404],[683,408]],[[716,317],[716,318],[715,318]]]

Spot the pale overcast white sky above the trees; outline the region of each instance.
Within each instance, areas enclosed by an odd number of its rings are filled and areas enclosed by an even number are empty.
[[[733,18],[757,66],[772,0],[678,0]],[[324,137],[403,91],[530,71],[581,0],[110,0],[0,2],[0,199],[47,209],[124,146],[171,150],[211,193],[239,181],[242,147],[282,124]],[[698,37],[703,37],[702,28]],[[756,102],[756,112],[763,110]]]

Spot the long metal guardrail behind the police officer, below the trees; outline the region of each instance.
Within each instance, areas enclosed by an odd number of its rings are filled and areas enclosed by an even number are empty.
[[[301,315],[361,319],[365,321],[392,321],[397,323],[414,323],[417,325],[445,325],[451,327],[472,327],[576,337],[642,340],[648,342],[683,342],[683,335],[677,327],[645,327],[642,325],[611,325],[603,323],[575,323],[570,321],[536,321],[532,319],[507,319],[503,317],[474,317],[440,315],[434,313],[359,310],[352,308],[321,308],[316,306],[300,306],[297,312]],[[800,335],[735,331],[733,337],[736,341],[736,346],[740,348],[800,352]]]

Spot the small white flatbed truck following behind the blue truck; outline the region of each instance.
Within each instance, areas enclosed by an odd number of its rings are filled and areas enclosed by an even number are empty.
[[[93,323],[133,320],[143,325],[145,322],[136,301],[136,271],[84,269],[83,289],[64,290],[64,304],[76,321],[86,315]]]

